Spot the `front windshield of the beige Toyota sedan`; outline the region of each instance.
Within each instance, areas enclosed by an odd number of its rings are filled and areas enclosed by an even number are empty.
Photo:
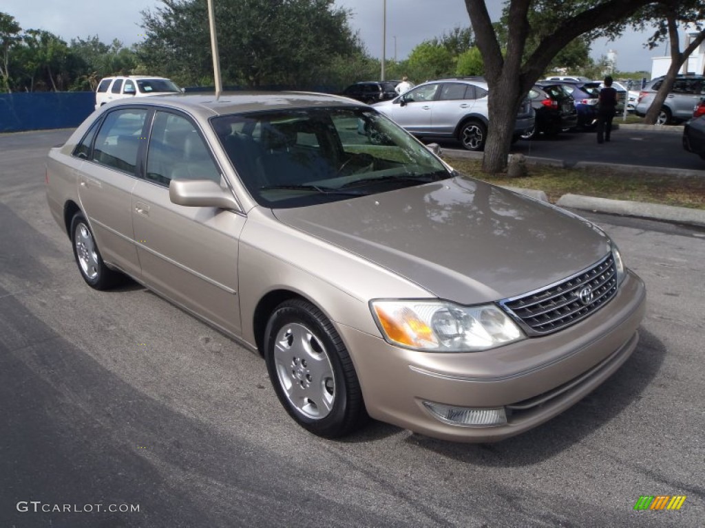
[[[211,120],[262,206],[291,208],[451,177],[438,158],[372,108],[337,106]]]

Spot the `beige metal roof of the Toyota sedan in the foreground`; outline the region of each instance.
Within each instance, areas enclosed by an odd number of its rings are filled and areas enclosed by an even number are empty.
[[[326,106],[360,106],[347,97],[314,92],[223,92],[216,94],[153,95],[135,99],[119,99],[111,103],[118,106],[164,106],[209,118],[217,115],[292,108]]]

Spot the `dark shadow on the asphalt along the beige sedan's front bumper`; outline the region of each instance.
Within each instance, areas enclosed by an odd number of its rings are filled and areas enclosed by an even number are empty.
[[[412,434],[407,442],[461,463],[494,467],[534,465],[552,458],[605,427],[642,398],[656,376],[666,347],[643,327],[632,356],[605,383],[552,420],[496,444],[455,444]]]

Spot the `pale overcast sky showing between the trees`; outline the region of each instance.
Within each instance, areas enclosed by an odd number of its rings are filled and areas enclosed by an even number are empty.
[[[204,0],[205,1],[205,0]],[[155,0],[2,0],[0,11],[16,18],[23,29],[44,29],[69,42],[73,37],[97,34],[106,43],[119,39],[130,45],[140,39],[140,11],[159,5]],[[420,42],[439,37],[453,27],[470,26],[462,0],[387,0],[387,58],[406,58]],[[490,15],[499,17],[500,0],[490,0]],[[360,31],[372,56],[382,55],[382,13],[384,0],[337,0],[336,5],[353,11],[351,23]],[[623,71],[651,71],[651,56],[666,54],[666,47],[644,49],[645,34],[631,33],[617,42],[596,41],[596,59],[610,49],[617,51],[617,68]]]

